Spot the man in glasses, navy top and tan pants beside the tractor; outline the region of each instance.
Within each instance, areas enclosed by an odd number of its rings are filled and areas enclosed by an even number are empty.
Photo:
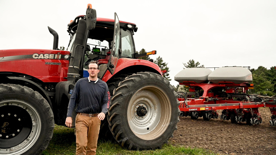
[[[97,77],[99,71],[99,65],[90,62],[89,77],[78,80],[69,101],[65,121],[68,127],[72,126],[72,112],[77,106],[76,155],[96,154],[101,120],[105,118],[110,100],[107,84]]]

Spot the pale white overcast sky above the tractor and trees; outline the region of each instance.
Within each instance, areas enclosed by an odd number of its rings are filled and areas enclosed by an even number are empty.
[[[86,13],[135,23],[136,50],[157,50],[171,84],[190,59],[205,67],[276,65],[276,0],[266,1],[4,1],[0,0],[0,49],[67,48],[70,20]]]

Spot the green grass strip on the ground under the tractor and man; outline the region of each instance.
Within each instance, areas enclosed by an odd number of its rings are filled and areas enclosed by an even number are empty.
[[[54,135],[43,155],[75,155],[76,139],[74,129],[55,125]],[[98,140],[97,154],[189,154],[215,155],[211,151],[200,148],[186,148],[182,146],[163,145],[162,149],[147,151],[129,151],[113,141]]]

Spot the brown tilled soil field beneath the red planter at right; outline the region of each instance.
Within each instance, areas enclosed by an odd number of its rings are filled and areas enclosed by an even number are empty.
[[[218,111],[221,114],[221,111]],[[276,127],[269,125],[269,108],[259,108],[262,124],[246,125],[246,122],[231,124],[230,120],[211,119],[203,121],[200,117],[180,117],[172,145],[205,148],[214,153],[231,155],[276,155]]]

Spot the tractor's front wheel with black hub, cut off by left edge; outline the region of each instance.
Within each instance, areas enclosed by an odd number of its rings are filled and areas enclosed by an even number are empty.
[[[0,154],[41,154],[53,136],[52,109],[29,87],[0,84],[0,118]]]

